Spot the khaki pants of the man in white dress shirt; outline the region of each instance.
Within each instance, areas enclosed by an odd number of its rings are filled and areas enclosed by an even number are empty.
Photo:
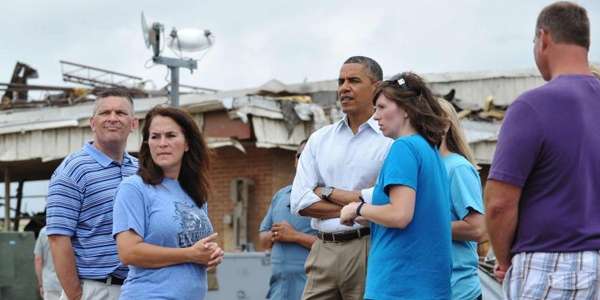
[[[348,242],[317,240],[306,259],[304,300],[361,300],[370,236]]]

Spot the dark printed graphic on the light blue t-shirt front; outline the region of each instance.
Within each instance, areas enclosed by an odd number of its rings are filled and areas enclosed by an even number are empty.
[[[175,202],[175,213],[175,218],[181,225],[181,231],[177,233],[180,248],[190,247],[212,233],[210,221],[196,205]]]

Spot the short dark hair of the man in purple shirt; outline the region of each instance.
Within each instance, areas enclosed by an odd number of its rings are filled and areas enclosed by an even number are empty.
[[[535,25],[536,36],[543,29],[556,43],[575,44],[590,49],[590,20],[585,8],[567,1],[546,6]]]

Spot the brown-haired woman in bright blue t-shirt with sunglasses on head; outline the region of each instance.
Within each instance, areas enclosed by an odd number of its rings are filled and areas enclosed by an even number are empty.
[[[413,73],[382,82],[375,100],[374,118],[395,141],[372,204],[348,204],[340,217],[371,222],[365,299],[450,299],[450,196],[438,152],[444,112]]]

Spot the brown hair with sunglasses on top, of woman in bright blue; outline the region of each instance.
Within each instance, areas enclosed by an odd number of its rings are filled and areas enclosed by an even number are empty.
[[[440,146],[448,124],[446,114],[419,75],[405,72],[382,81],[375,90],[373,104],[381,94],[406,111],[412,127],[429,144]]]

